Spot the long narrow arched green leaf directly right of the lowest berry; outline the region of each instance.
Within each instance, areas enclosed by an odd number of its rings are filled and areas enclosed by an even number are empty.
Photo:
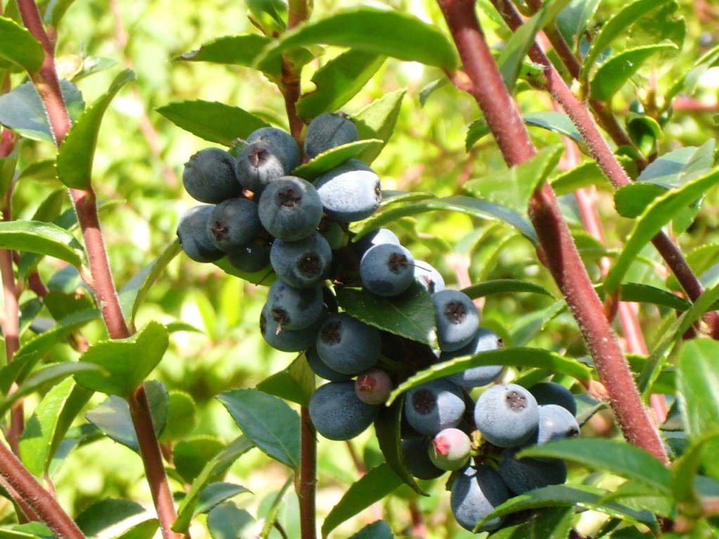
[[[581,507],[603,512],[610,517],[628,520],[629,522],[643,522],[651,528],[656,528],[656,518],[651,511],[635,510],[617,502],[604,502],[604,495],[608,491],[590,487],[589,485],[552,485],[544,489],[536,489],[509,499],[497,507],[490,515],[480,520],[480,525],[495,517],[510,515],[518,511],[538,509],[541,507]]]

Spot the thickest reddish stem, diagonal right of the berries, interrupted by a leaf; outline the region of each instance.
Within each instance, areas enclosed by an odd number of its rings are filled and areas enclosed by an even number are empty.
[[[475,14],[475,3],[470,0],[438,1],[470,78],[470,93],[480,105],[507,164],[521,164],[536,150],[494,63]],[[533,193],[529,213],[546,265],[580,327],[623,435],[629,442],[668,463],[659,433],[641,403],[626,358],[603,315],[602,303],[549,185],[545,184]]]

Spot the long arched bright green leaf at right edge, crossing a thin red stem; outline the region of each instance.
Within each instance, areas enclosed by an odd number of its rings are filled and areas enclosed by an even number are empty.
[[[668,191],[651,203],[644,213],[635,221],[634,226],[624,244],[624,249],[615,259],[605,279],[605,290],[613,293],[637,254],[656,236],[661,228],[685,206],[694,202],[708,189],[719,182],[719,170],[690,180],[682,187]]]

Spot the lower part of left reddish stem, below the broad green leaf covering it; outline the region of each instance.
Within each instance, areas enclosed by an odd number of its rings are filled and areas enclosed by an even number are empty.
[[[130,416],[137,433],[137,443],[142,453],[142,464],[145,466],[145,475],[150,484],[152,501],[155,502],[157,518],[160,520],[162,537],[165,539],[180,539],[182,534],[175,533],[170,526],[177,520],[178,514],[173,502],[173,493],[165,476],[165,464],[162,462],[160,444],[157,443],[155,426],[152,424],[150,405],[147,403],[145,386],[137,388],[134,395],[127,400],[130,407]]]

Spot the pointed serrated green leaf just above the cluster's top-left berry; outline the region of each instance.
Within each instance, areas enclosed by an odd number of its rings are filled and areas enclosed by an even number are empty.
[[[232,146],[235,139],[247,139],[256,129],[270,125],[238,106],[218,101],[174,101],[157,112],[193,135],[226,147]]]

